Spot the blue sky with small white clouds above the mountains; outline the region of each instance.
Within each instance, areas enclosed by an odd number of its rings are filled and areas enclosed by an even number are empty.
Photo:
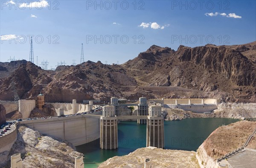
[[[0,62],[123,64],[150,46],[256,41],[255,0],[0,0]]]

